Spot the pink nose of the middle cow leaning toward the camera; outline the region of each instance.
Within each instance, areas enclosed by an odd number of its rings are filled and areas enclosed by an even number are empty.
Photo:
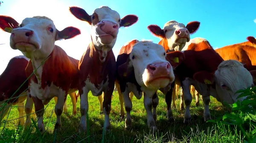
[[[169,62],[157,62],[154,64],[148,64],[147,70],[152,74],[166,75],[170,73],[171,64]]]

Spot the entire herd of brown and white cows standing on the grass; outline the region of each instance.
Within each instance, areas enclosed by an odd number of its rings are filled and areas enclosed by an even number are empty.
[[[91,27],[91,42],[80,60],[68,56],[55,45],[57,40],[81,34],[78,28],[70,26],[59,31],[53,21],[44,16],[25,18],[21,23],[12,17],[0,16],[0,28],[10,33],[10,47],[24,55],[13,57],[0,76],[0,101],[5,104],[0,109],[1,120],[9,107],[17,104],[19,123],[28,126],[34,104],[38,129],[44,133],[44,105],[54,98],[55,130],[60,130],[61,114],[63,109],[67,111],[69,94],[73,115],[80,96],[79,132],[86,132],[88,93],[91,91],[99,99],[100,110],[105,115],[104,129],[108,131],[111,129],[111,99],[116,85],[122,117],[125,115],[123,106],[126,110],[125,128],[130,129],[132,125],[133,95],[137,99],[144,95],[148,127],[157,130],[157,90],[165,95],[167,119],[173,121],[171,103],[175,100],[175,84],[182,87],[180,105],[183,106],[183,101],[186,105],[183,122],[189,123],[191,85],[202,95],[204,121],[211,119],[210,95],[222,104],[232,104],[239,95],[237,90],[254,85],[256,39],[252,36],[247,37],[247,42],[214,50],[204,38],[190,39],[200,22],[189,22],[185,26],[171,20],[163,29],[158,25],[148,25],[148,30],[161,39],[158,44],[149,40],[131,40],[122,46],[115,59],[112,48],[119,28],[135,24],[138,17],[129,14],[120,18],[119,13],[108,6],[96,8],[91,15],[75,6],[70,7],[70,12]]]

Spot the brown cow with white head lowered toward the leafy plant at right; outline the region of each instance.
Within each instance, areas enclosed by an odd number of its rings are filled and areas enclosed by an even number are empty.
[[[192,101],[189,85],[203,96],[204,121],[211,119],[209,96],[212,95],[222,104],[232,104],[239,93],[237,90],[251,87],[253,79],[250,72],[236,60],[226,60],[213,50],[204,38],[194,38],[183,48],[185,60],[176,67],[175,74],[184,93],[185,114],[183,123],[189,123],[189,107]],[[243,100],[240,98],[239,100]]]

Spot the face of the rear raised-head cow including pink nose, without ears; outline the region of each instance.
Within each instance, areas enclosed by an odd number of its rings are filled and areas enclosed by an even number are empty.
[[[188,29],[183,23],[179,23],[175,20],[166,22],[163,31],[166,33],[168,47],[176,47],[180,44],[185,45],[186,42],[189,42],[190,40]]]

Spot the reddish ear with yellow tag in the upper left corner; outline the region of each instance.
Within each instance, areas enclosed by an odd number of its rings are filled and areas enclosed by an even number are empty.
[[[0,15],[0,28],[8,33],[12,32],[12,29],[19,27],[19,23],[12,17]]]

